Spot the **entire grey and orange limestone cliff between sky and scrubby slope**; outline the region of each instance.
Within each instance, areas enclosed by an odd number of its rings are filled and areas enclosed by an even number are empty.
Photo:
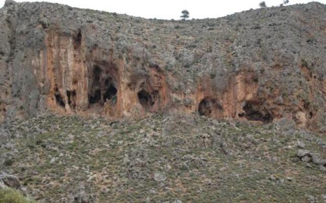
[[[0,122],[181,111],[324,131],[326,6],[167,21],[7,1]]]

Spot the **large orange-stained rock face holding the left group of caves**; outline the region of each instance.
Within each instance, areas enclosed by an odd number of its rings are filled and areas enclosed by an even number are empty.
[[[98,114],[112,118],[145,116],[167,105],[165,74],[158,66],[132,70],[114,48],[87,48],[83,33],[45,34],[45,47],[32,59],[46,106],[57,113]]]

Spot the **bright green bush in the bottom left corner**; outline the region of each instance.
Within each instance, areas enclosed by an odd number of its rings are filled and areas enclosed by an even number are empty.
[[[0,189],[0,203],[36,203],[35,201],[26,199],[17,190],[4,188]]]

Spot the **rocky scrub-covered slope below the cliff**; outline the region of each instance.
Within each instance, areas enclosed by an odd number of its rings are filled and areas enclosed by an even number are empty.
[[[1,132],[0,171],[38,202],[326,201],[326,140],[294,123],[43,115]]]

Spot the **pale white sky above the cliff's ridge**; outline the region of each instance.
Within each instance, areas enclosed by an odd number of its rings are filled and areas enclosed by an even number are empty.
[[[262,0],[49,0],[47,2],[69,5],[77,8],[87,8],[107,12],[116,12],[131,16],[157,19],[180,19],[181,11],[188,10],[190,18],[216,18],[258,8]],[[304,4],[312,0],[289,0],[290,4]],[[26,2],[26,1],[16,1]],[[42,1],[30,1],[42,2]],[[277,6],[283,0],[266,0],[266,5]],[[326,4],[326,0],[318,0]],[[0,0],[3,7],[5,0]]]

